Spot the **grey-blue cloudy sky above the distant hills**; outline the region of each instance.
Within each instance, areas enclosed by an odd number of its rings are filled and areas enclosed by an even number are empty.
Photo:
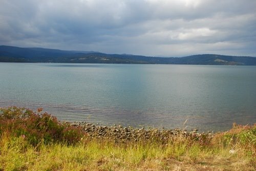
[[[255,0],[0,0],[0,45],[256,56]]]

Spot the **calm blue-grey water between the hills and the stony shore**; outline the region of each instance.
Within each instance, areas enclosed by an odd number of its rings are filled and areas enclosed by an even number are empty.
[[[256,66],[0,63],[0,106],[13,105],[103,125],[227,130],[256,123]]]

